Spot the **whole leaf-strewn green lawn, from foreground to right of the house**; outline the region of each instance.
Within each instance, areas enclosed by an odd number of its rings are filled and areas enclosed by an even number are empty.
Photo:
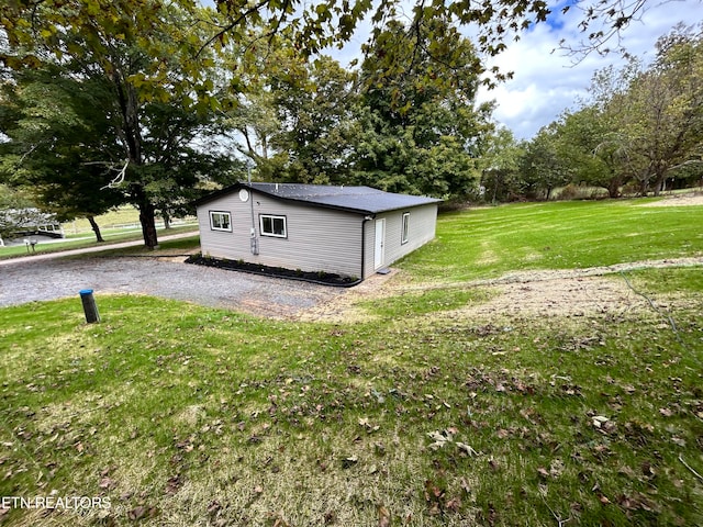
[[[75,300],[0,310],[0,495],[110,504],[0,517],[703,525],[701,266],[629,271],[656,309],[465,311],[502,294],[475,279],[700,257],[701,225],[635,202],[454,213],[399,265],[415,293],[342,323],[135,295],[101,298],[99,325]]]

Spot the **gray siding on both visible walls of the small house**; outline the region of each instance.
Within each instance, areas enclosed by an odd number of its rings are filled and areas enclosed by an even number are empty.
[[[250,191],[250,194],[247,202],[241,201],[238,193],[232,192],[198,208],[203,255],[360,278],[368,278],[376,272],[373,220],[364,221],[362,214],[353,212],[284,202],[255,191]],[[258,255],[250,251],[252,203]],[[210,211],[230,212],[232,232],[213,231],[210,227]],[[405,212],[410,212],[410,228],[408,243],[402,244],[402,218]],[[259,214],[286,216],[288,237],[261,236]],[[437,205],[432,203],[392,211],[377,217],[386,218],[383,266],[389,266],[435,237]]]

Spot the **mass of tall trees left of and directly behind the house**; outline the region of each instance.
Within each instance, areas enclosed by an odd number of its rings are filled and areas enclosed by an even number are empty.
[[[186,3],[38,2],[0,19],[3,188],[89,218],[98,240],[94,216],[131,203],[149,247],[157,214],[247,177],[477,188],[491,105],[476,102],[483,67],[449,16],[389,20],[345,68],[263,23],[208,45],[226,16]]]

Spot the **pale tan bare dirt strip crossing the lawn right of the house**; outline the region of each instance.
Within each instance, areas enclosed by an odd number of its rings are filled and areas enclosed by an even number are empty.
[[[647,260],[588,269],[520,271],[493,280],[464,283],[419,283],[410,280],[402,271],[394,270],[390,276],[372,277],[347,294],[303,312],[300,318],[335,323],[370,321],[373,314],[364,309],[360,302],[457,288],[482,288],[489,291],[490,300],[444,312],[450,316],[620,316],[629,311],[650,309],[648,300],[632,288],[624,274],[626,271],[687,266],[703,266],[703,257]]]

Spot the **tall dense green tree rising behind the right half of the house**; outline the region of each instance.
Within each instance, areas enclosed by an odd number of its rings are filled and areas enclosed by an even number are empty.
[[[378,57],[389,48],[398,63],[386,70]],[[366,49],[359,72],[357,181],[429,195],[473,192],[492,127],[491,105],[476,104],[479,65],[471,43],[447,21],[391,22]]]

